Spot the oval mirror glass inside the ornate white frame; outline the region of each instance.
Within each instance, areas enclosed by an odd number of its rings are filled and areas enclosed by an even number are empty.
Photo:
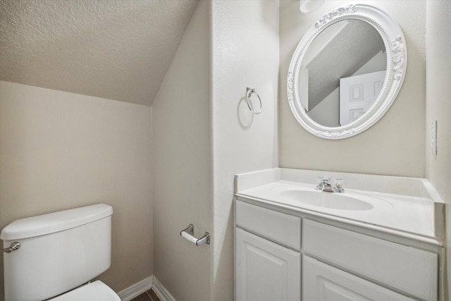
[[[351,123],[369,109],[378,94],[372,101],[365,97],[362,108],[354,108],[357,103],[353,104],[348,112],[351,116],[345,121],[340,116],[340,79],[379,71],[385,76],[386,67],[385,44],[375,27],[362,20],[341,20],[330,25],[311,42],[299,68],[297,85],[304,111],[323,126]]]

